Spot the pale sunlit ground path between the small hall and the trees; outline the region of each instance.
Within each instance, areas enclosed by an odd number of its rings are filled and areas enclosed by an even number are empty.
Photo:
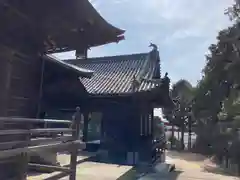
[[[240,180],[223,174],[209,173],[204,170],[206,157],[193,153],[166,153],[166,162],[176,166],[174,172],[149,173],[139,180]]]

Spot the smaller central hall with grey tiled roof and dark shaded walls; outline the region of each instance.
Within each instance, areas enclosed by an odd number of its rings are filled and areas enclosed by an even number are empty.
[[[90,136],[89,124],[97,121],[99,148],[109,157],[127,164],[152,161],[156,146],[153,110],[172,106],[169,79],[161,78],[157,48],[147,53],[65,62],[93,71],[92,78],[80,78],[89,94],[79,102],[85,114],[85,141]]]

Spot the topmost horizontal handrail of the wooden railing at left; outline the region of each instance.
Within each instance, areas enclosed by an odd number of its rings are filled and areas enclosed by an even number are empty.
[[[0,122],[28,122],[28,123],[62,123],[62,124],[71,124],[72,121],[69,120],[57,120],[57,119],[33,119],[33,118],[19,118],[19,117],[0,117]]]

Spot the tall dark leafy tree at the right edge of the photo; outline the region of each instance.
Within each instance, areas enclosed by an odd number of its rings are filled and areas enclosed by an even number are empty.
[[[215,151],[227,148],[226,142],[235,137],[216,130],[219,122],[229,121],[233,130],[240,128],[240,0],[226,14],[232,25],[220,31],[216,44],[209,46],[192,103],[192,112],[201,129],[197,133]],[[225,139],[224,143],[220,139]]]

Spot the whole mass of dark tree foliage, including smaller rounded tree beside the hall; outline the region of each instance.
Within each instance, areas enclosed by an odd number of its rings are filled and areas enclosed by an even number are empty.
[[[236,159],[240,140],[240,0],[225,12],[232,25],[221,30],[209,46],[202,78],[196,87],[187,80],[172,86],[173,111],[163,110],[167,119],[182,130],[193,120],[197,124],[196,144],[219,156],[231,152]],[[226,130],[223,124],[231,131]],[[182,138],[183,143],[183,138]],[[231,144],[231,145],[230,145]]]

